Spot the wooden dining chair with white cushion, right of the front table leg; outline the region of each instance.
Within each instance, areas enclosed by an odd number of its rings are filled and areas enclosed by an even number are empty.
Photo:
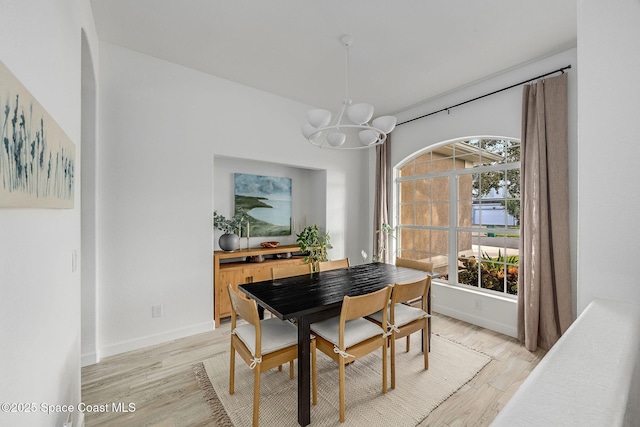
[[[338,363],[340,422],[345,420],[345,365],[373,351],[382,351],[382,392],[387,392],[387,313],[391,285],[369,294],[345,296],[340,316],[311,324],[316,348]],[[383,310],[382,325],[364,316]]]

